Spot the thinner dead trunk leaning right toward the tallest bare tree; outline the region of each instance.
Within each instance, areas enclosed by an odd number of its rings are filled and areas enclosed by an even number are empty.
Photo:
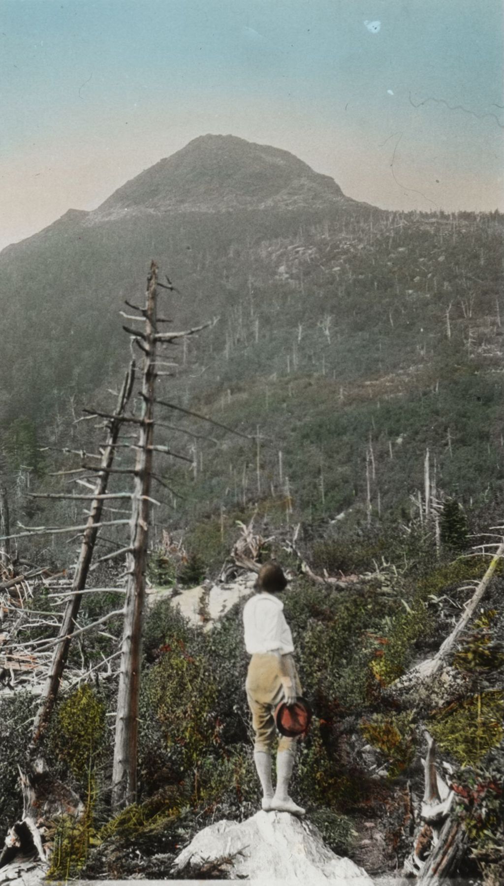
[[[91,502],[90,514],[86,529],[84,530],[81,551],[74,572],[74,580],[72,582],[72,595],[69,596],[66,603],[66,609],[63,614],[63,621],[59,629],[58,642],[54,651],[54,656],[50,664],[40,707],[35,717],[34,731],[32,734],[32,749],[38,744],[45,727],[50,719],[51,711],[58,696],[61,675],[65,669],[70,643],[72,641],[72,633],[74,632],[75,619],[77,618],[79,608],[81,606],[82,596],[78,591],[82,591],[86,587],[88,578],[89,565],[93,556],[95,543],[97,540],[98,525],[104,507],[103,496],[106,493],[110,470],[112,468],[113,456],[115,453],[115,444],[120,433],[121,416],[124,408],[128,403],[131,390],[135,380],[135,363],[132,362],[128,373],[124,379],[119,399],[117,401],[116,410],[110,420],[108,437],[103,450],[102,460],[97,478],[97,486],[95,489],[95,498]]]

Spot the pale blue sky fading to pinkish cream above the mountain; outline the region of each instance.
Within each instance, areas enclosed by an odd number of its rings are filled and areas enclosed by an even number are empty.
[[[378,206],[504,208],[502,15],[500,0],[0,0],[0,245],[206,132],[285,148]]]

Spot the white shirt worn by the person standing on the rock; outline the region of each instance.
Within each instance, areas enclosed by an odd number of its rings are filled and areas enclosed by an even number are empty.
[[[244,605],[245,649],[254,652],[273,652],[282,655],[294,651],[291,628],[283,615],[283,602],[273,594],[262,591]]]

